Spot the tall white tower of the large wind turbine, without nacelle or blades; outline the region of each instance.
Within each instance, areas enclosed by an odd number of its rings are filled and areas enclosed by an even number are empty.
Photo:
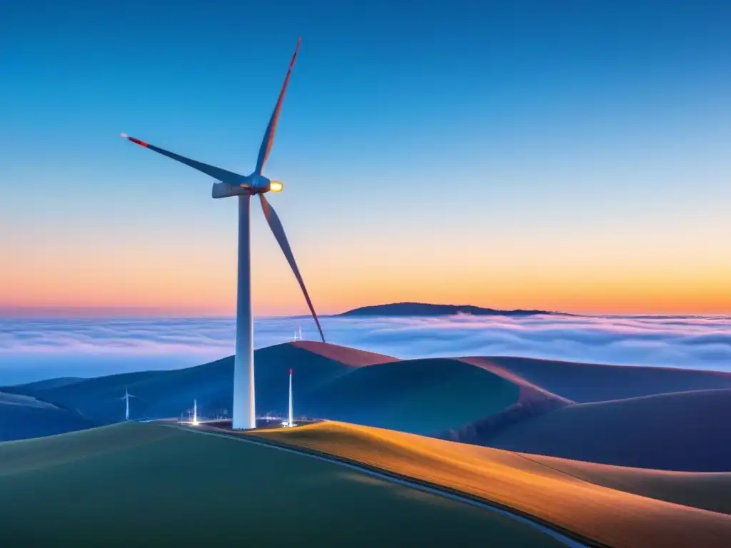
[[[257,427],[254,392],[254,317],[251,313],[251,196],[238,197],[236,355],[233,365],[232,428]]]

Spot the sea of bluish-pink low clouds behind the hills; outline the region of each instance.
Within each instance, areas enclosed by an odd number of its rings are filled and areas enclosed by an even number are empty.
[[[257,348],[306,317],[254,323]],[[731,316],[322,318],[327,341],[401,358],[525,356],[731,371]],[[171,369],[233,353],[232,318],[0,318],[0,386],[58,376]]]

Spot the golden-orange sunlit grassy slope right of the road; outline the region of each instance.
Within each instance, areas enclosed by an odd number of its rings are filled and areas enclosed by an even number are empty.
[[[731,516],[602,487],[522,454],[338,422],[253,435],[470,493],[609,546],[731,546]]]

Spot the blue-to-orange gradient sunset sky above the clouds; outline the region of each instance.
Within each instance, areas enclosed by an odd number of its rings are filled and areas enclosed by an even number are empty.
[[[232,313],[235,200],[119,132],[248,174],[301,36],[265,174],[320,313],[731,312],[730,2],[415,5],[4,4],[0,308]],[[252,205],[255,313],[306,313]]]

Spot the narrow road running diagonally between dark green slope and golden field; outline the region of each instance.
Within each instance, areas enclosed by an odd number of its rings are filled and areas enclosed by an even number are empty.
[[[380,473],[378,471],[373,470],[372,468],[367,468],[366,466],[358,466],[358,465],[351,464],[351,463],[344,463],[342,460],[338,460],[336,458],[328,458],[321,454],[313,454],[313,453],[306,452],[306,451],[300,451],[297,448],[292,447],[292,446],[285,447],[285,446],[281,446],[276,443],[270,443],[268,441],[260,441],[260,440],[254,439],[251,436],[247,436],[247,435],[226,433],[224,431],[215,431],[215,430],[210,430],[210,429],[203,429],[200,427],[189,427],[187,425],[170,425],[170,426],[180,427],[185,430],[189,430],[194,433],[203,434],[203,435],[215,435],[220,438],[233,438],[238,441],[243,441],[247,444],[268,446],[268,447],[272,447],[273,449],[279,449],[280,451],[287,451],[290,453],[300,454],[305,457],[310,457],[310,458],[317,459],[317,460],[324,460],[326,463],[332,463],[332,464],[336,464],[339,466],[343,466],[344,468],[350,468],[351,470],[355,470],[357,472],[364,473],[367,476],[371,476],[371,477],[378,478],[378,479],[383,479],[387,482],[392,482],[395,484],[403,485],[405,487],[411,487],[412,489],[423,491],[423,492],[428,492],[428,493],[431,493],[432,495],[439,495],[441,497],[449,498],[452,501],[459,501],[461,503],[469,504],[470,506],[477,506],[478,508],[485,509],[488,511],[493,511],[493,512],[496,512],[497,514],[501,514],[503,516],[510,517],[510,519],[512,519],[512,520],[520,522],[523,525],[528,525],[529,527],[539,530],[541,533],[544,533],[544,534],[552,537],[553,539],[563,542],[564,544],[566,544],[567,547],[570,547],[570,548],[589,548],[588,544],[583,544],[579,541],[571,539],[568,536],[564,535],[563,533],[561,533],[557,530],[551,529],[551,528],[547,527],[546,525],[543,525],[542,523],[534,522],[533,520],[529,520],[527,517],[521,516],[519,514],[514,514],[511,511],[497,508],[496,506],[491,506],[487,502],[477,501],[474,498],[468,498],[466,496],[463,497],[463,496],[457,495],[450,491],[439,490],[435,487],[429,487],[427,485],[420,484],[419,482],[416,482],[416,481],[409,482],[406,479],[396,478],[394,476],[390,476],[387,473]]]

